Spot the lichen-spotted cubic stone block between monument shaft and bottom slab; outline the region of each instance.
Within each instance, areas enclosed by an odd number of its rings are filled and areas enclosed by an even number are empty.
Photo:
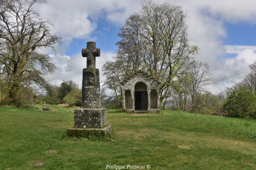
[[[74,110],[75,128],[102,128],[106,125],[106,108],[82,108]]]

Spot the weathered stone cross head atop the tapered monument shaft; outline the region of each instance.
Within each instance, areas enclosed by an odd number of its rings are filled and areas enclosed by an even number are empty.
[[[95,42],[87,42],[87,48],[82,49],[82,56],[87,57],[87,68],[95,68],[95,57],[100,56],[100,48],[96,48]]]

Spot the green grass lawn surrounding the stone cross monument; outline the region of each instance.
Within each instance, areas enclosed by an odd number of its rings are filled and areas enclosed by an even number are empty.
[[[107,164],[150,165],[152,170],[256,169],[256,120],[108,110],[114,138],[91,141],[65,137],[73,112],[50,107],[52,111],[0,107],[0,170],[98,170]],[[44,164],[34,166],[37,162]]]

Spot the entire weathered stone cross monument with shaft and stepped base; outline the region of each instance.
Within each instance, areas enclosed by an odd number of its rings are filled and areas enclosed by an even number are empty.
[[[100,72],[95,68],[100,49],[95,47],[95,42],[87,42],[87,48],[82,49],[82,56],[87,57],[82,79],[82,108],[74,110],[74,128],[67,129],[68,136],[106,136],[113,130],[112,125],[107,125],[107,109],[100,103]]]

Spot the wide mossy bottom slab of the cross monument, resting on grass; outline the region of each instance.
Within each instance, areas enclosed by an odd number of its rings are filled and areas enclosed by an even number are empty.
[[[103,137],[109,135],[112,131],[112,125],[106,125],[103,128],[69,128],[67,129],[67,135],[77,138],[88,138],[89,136]]]

